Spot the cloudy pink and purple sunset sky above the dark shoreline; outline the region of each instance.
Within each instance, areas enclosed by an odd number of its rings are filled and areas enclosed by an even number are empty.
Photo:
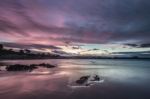
[[[0,0],[0,43],[60,55],[150,56],[149,0]]]

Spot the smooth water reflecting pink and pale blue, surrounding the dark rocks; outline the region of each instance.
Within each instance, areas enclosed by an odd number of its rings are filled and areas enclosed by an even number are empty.
[[[49,63],[56,68],[7,72],[8,64]],[[150,99],[150,61],[48,59],[0,61],[0,99]],[[77,85],[83,76],[100,82]]]

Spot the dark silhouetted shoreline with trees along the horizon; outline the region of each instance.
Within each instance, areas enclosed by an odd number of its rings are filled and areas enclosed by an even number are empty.
[[[94,55],[86,55],[86,56],[63,56],[52,53],[33,53],[32,51],[25,49],[14,51],[12,49],[4,49],[3,45],[0,47],[0,60],[23,60],[23,59],[147,59],[150,57],[139,57],[139,56],[94,56]]]

